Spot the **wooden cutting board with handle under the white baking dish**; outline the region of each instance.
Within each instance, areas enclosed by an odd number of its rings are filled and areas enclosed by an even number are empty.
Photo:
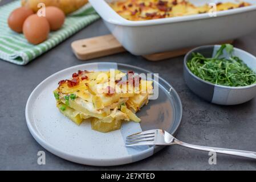
[[[219,42],[215,44],[233,43],[233,40],[226,42]],[[125,52],[125,48],[116,40],[116,38],[109,34],[97,36],[94,38],[76,40],[71,44],[73,52],[80,60],[91,60],[97,57],[109,56],[116,53]],[[154,53],[152,55],[144,55],[145,59],[149,61],[160,61],[172,57],[185,55],[194,47],[177,49],[174,51],[167,51],[161,53]]]

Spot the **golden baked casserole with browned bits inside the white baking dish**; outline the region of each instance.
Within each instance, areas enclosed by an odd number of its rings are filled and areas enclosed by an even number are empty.
[[[208,13],[208,5],[194,6],[186,0],[124,0],[109,3],[113,10],[128,20],[149,20]],[[250,3],[217,3],[217,11],[250,6]]]

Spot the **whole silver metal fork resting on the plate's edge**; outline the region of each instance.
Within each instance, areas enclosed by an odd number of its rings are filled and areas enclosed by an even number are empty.
[[[126,147],[145,146],[145,145],[146,146],[155,146],[155,145],[169,146],[172,144],[178,144],[180,146],[193,148],[196,150],[216,152],[220,154],[229,154],[229,155],[236,155],[236,156],[256,159],[256,152],[233,150],[233,149],[227,149],[227,148],[205,147],[205,146],[197,146],[194,144],[188,144],[174,138],[171,134],[169,134],[164,130],[148,130],[148,131],[143,131],[141,133],[129,135],[126,138],[126,142],[125,142]]]

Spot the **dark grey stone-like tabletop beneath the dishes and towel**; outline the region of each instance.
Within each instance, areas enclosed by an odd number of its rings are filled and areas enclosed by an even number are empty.
[[[10,2],[3,0],[0,5]],[[246,27],[245,27],[246,28]],[[234,30],[235,31],[235,30]],[[180,146],[166,147],[148,159],[117,167],[91,167],[68,162],[47,152],[27,129],[25,106],[30,93],[53,73],[92,61],[116,61],[160,73],[180,95],[184,114],[177,138],[206,146],[256,151],[256,99],[237,106],[218,106],[195,96],[182,77],[183,56],[150,62],[130,53],[80,61],[71,51],[74,40],[109,34],[101,20],[75,34],[26,66],[0,61],[0,169],[31,170],[249,170],[256,161],[217,155],[217,165],[208,164],[208,153]],[[256,32],[237,39],[234,46],[256,55]],[[37,164],[38,151],[46,151],[46,165]]]

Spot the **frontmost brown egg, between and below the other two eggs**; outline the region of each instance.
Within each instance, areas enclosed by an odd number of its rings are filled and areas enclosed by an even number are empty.
[[[50,26],[45,17],[29,16],[23,24],[23,34],[31,44],[39,44],[48,38]]]

